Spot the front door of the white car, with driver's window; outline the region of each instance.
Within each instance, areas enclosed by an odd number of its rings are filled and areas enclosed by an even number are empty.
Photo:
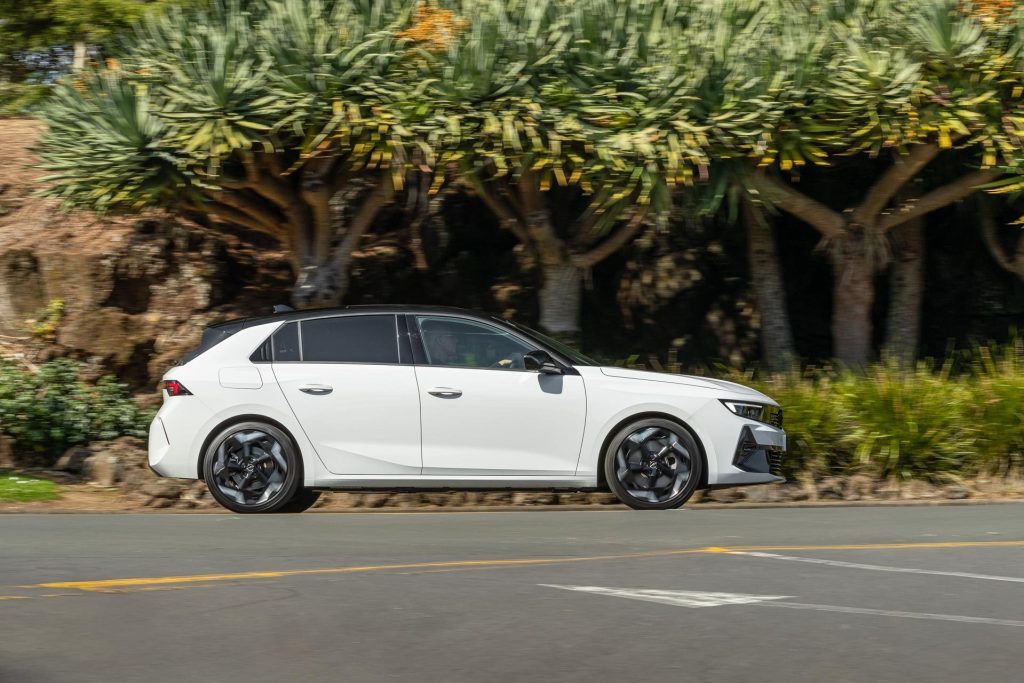
[[[579,375],[525,370],[527,340],[497,326],[416,315],[425,475],[573,476],[587,398]]]

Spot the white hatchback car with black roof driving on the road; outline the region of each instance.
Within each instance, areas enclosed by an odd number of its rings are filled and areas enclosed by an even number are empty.
[[[321,489],[606,489],[675,508],[782,481],[782,412],[732,382],[602,367],[435,306],[275,312],[207,328],[164,376],[150,465],[236,512]]]

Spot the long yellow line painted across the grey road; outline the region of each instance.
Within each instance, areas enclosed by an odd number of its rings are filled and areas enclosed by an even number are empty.
[[[694,555],[708,553],[730,552],[770,552],[777,550],[896,550],[896,549],[932,549],[932,548],[1020,548],[1024,541],[954,541],[942,543],[894,543],[894,544],[863,544],[837,546],[734,546],[728,548],[706,547],[687,548],[681,550],[657,550],[644,553],[628,553],[622,555],[590,555],[580,557],[547,557],[531,559],[506,560],[453,560],[445,562],[408,562],[400,564],[369,564],[365,566],[325,567],[318,569],[281,569],[276,571],[240,571],[231,573],[206,573],[180,577],[140,577],[130,579],[104,579],[98,581],[61,581],[46,584],[36,584],[25,588],[74,589],[89,592],[114,592],[119,589],[143,586],[165,586],[170,584],[194,584],[202,582],[249,581],[258,579],[283,579],[286,577],[306,577],[316,574],[360,573],[368,571],[386,571],[394,569],[446,569],[454,567],[509,567],[536,566],[545,564],[567,564],[571,562],[596,562],[602,560],[624,560],[648,557],[670,557],[675,555]]]

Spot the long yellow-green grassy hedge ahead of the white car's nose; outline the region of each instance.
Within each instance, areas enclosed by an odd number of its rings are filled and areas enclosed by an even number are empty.
[[[937,371],[883,362],[863,373],[723,372],[782,405],[788,478],[805,471],[936,480],[1024,473],[1021,340],[950,356]]]

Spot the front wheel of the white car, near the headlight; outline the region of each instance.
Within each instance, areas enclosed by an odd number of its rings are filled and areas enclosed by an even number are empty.
[[[660,418],[636,420],[612,436],[604,452],[611,493],[634,510],[672,510],[690,499],[703,469],[689,430]]]

